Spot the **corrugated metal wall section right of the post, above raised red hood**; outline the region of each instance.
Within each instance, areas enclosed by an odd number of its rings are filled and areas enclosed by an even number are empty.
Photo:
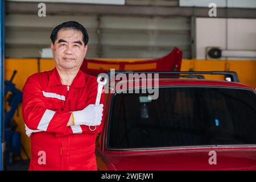
[[[190,56],[188,18],[102,17],[102,57],[160,57],[174,47]]]

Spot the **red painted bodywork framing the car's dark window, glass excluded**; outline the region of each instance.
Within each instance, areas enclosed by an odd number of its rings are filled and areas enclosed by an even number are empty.
[[[254,88],[239,82],[160,78],[163,86],[210,86],[214,88]],[[179,146],[118,149],[108,148],[108,127],[114,93],[106,94],[104,130],[96,143],[99,170],[256,170],[256,141],[254,144],[208,146]],[[256,120],[255,120],[256,122]],[[210,164],[210,151],[216,152],[217,164]]]

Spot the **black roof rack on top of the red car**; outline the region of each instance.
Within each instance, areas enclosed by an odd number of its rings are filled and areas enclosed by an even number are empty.
[[[106,74],[110,77],[110,71],[106,72]],[[239,82],[238,76],[236,72],[233,71],[205,71],[205,72],[200,72],[200,71],[195,71],[195,72],[190,72],[190,71],[185,71],[185,72],[156,72],[156,71],[115,71],[115,75],[118,73],[159,73],[159,77],[189,77],[189,78],[200,78],[204,79],[203,75],[225,75],[226,78],[230,78],[230,81],[233,82]],[[177,74],[185,74],[185,75],[177,75]]]

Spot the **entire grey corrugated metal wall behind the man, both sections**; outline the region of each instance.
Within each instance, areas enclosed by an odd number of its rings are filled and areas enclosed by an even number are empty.
[[[138,5],[140,1],[127,1]],[[177,1],[141,1],[142,5],[177,6]],[[68,5],[67,5],[68,6]],[[39,57],[49,47],[52,29],[76,20],[89,32],[87,57],[151,58],[167,55],[174,47],[191,58],[191,19],[163,16],[114,15],[6,15],[6,57]],[[97,34],[100,32],[100,34]]]

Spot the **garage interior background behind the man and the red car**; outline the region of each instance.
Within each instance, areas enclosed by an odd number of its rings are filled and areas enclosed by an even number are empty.
[[[38,14],[42,2],[46,16]],[[211,17],[212,2],[217,5],[217,16]],[[12,82],[17,90],[22,90],[28,76],[55,67],[49,35],[53,27],[68,20],[81,23],[88,31],[86,59],[102,64],[109,60],[136,63],[166,56],[177,47],[183,53],[180,71],[234,71],[242,84],[256,88],[254,0],[7,0],[2,1],[1,10],[1,81]],[[211,57],[212,48],[221,50],[222,55]],[[223,76],[205,78],[223,80]],[[3,84],[1,88],[6,89]],[[1,100],[2,110],[11,108],[9,94]],[[4,151],[5,114],[1,114]],[[20,154],[6,162],[1,152],[1,169],[27,170],[31,144],[25,133],[22,104],[16,107],[13,120],[20,134]]]

